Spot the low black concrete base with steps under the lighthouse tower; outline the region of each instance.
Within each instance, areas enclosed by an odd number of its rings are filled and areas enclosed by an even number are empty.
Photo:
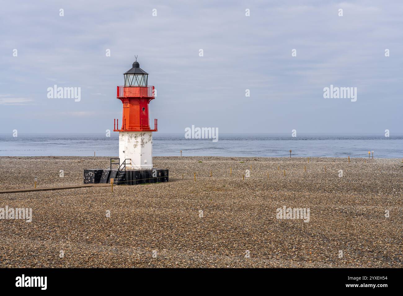
[[[84,184],[110,183],[114,179],[114,185],[137,185],[149,183],[168,182],[168,169],[152,170],[126,170],[117,175],[117,170],[84,170]]]

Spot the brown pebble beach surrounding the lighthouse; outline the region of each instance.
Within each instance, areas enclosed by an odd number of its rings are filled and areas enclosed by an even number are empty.
[[[0,157],[0,190],[110,157]],[[2,193],[0,267],[403,267],[402,159],[153,157],[169,182]],[[60,170],[63,177],[60,177]],[[342,171],[342,176],[340,176]],[[249,177],[248,177],[249,176]],[[278,219],[309,209],[309,221]]]

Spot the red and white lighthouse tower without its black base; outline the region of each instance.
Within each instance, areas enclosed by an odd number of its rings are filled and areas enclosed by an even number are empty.
[[[119,132],[119,166],[129,170],[152,169],[152,132],[148,105],[154,99],[154,86],[148,85],[148,73],[139,62],[123,73],[125,85],[117,87],[116,97],[123,103],[122,120],[114,120],[114,131]],[[119,125],[120,122],[120,125]]]

